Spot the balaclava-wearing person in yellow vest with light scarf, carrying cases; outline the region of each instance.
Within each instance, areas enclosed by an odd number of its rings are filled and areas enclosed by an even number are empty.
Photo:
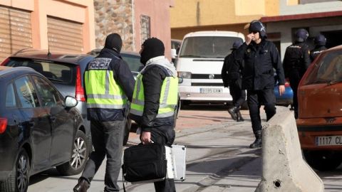
[[[164,44],[157,38],[147,38],[142,43],[140,62],[145,68],[137,76],[130,107],[130,117],[141,128],[142,144],[155,142],[171,146],[175,140],[178,78],[175,66],[164,53]],[[170,178],[154,184],[157,192],[176,191],[175,181]]]

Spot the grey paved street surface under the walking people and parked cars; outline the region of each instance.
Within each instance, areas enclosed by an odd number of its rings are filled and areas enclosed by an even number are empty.
[[[175,143],[187,146],[187,178],[177,181],[177,191],[254,191],[261,178],[261,150],[249,149],[253,142],[249,115],[246,122],[234,122],[222,106],[187,107],[177,121]],[[264,118],[264,114],[262,116]],[[132,133],[130,144],[138,143]],[[342,169],[318,173],[326,191],[342,191]],[[103,191],[104,166],[89,191]],[[78,175],[79,176],[79,175]],[[78,176],[58,176],[55,169],[31,178],[28,192],[71,191]],[[119,177],[119,185],[122,186]],[[154,191],[152,183],[127,185],[127,191]]]

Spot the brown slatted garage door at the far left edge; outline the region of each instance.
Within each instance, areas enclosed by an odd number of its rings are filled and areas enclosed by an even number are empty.
[[[0,6],[0,61],[23,48],[32,48],[31,13]]]

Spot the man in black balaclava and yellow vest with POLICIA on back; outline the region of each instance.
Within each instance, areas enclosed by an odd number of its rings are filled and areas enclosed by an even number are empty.
[[[105,38],[105,47],[88,63],[84,73],[87,117],[94,151],[73,191],[87,191],[90,181],[107,156],[104,191],[119,191],[117,184],[123,151],[125,107],[132,100],[134,78],[121,58],[123,43],[118,33]]]

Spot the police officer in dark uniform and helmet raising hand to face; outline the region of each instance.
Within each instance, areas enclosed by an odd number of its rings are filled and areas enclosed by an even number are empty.
[[[274,69],[279,80],[279,93],[285,91],[284,70],[276,46],[266,40],[266,29],[261,21],[249,23],[246,41],[234,52],[234,58],[244,59],[242,89],[247,90],[247,104],[255,141],[250,148],[261,147],[260,107],[264,105],[266,120],[276,114]]]

